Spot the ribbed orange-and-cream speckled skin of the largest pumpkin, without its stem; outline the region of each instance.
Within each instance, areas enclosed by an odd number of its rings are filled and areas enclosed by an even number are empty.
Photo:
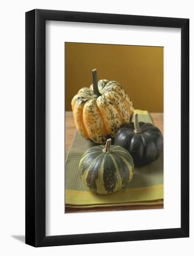
[[[100,96],[95,98],[93,85],[81,88],[72,99],[74,122],[86,139],[104,144],[107,137],[132,119],[134,106],[118,82],[100,80]]]

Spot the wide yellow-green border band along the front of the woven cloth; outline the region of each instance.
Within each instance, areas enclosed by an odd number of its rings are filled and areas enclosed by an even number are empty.
[[[154,192],[154,193],[153,193]],[[122,189],[109,195],[98,195],[90,191],[66,190],[68,205],[96,205],[128,202],[142,202],[163,199],[163,184],[137,189]]]

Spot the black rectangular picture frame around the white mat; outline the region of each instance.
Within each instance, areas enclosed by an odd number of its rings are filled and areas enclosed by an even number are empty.
[[[46,236],[46,20],[181,28],[181,228]],[[26,243],[34,247],[189,236],[189,19],[34,9],[26,13]]]

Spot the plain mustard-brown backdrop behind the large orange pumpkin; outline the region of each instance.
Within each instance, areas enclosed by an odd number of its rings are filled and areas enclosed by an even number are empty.
[[[134,108],[163,112],[163,47],[65,42],[65,102],[92,83],[92,69],[100,79],[120,82]]]

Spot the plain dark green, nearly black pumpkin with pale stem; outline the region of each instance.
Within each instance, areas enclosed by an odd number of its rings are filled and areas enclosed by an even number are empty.
[[[139,122],[121,127],[115,136],[115,145],[126,148],[132,155],[135,166],[147,165],[159,158],[163,149],[163,138],[159,128],[151,123]]]

